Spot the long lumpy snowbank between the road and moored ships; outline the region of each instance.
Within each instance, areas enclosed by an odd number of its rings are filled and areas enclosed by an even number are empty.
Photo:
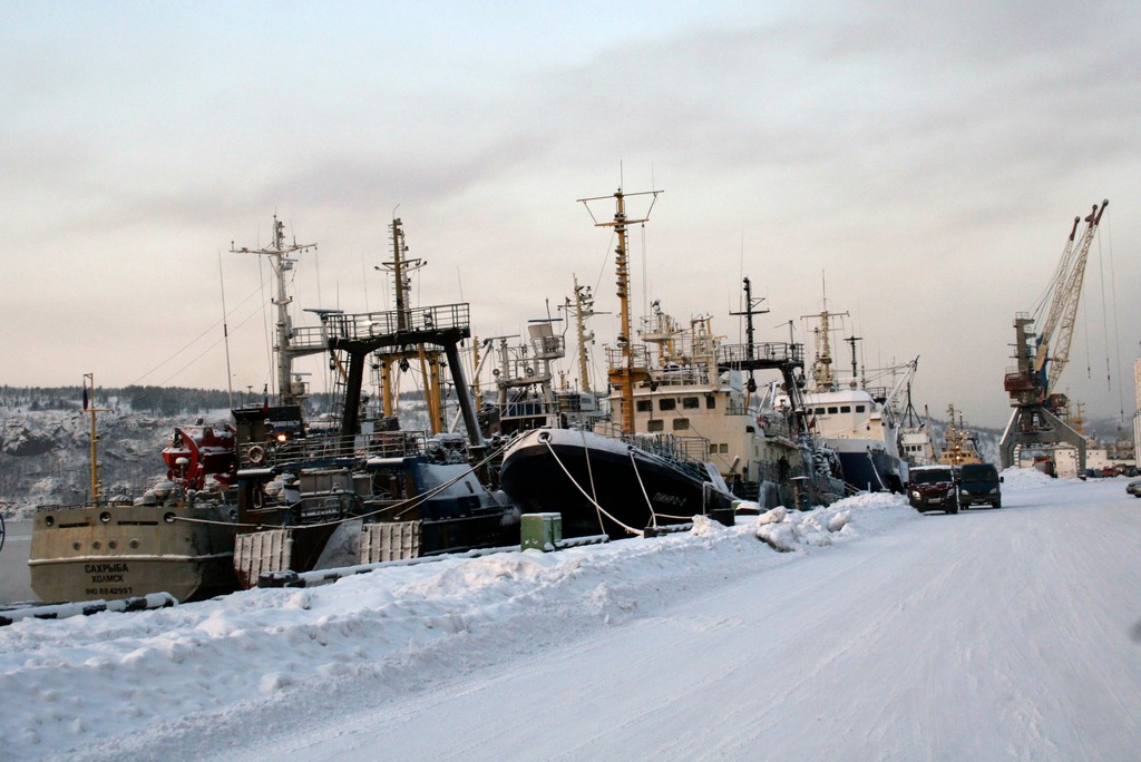
[[[220,719],[238,711],[272,722],[356,683],[406,691],[914,518],[898,496],[864,495],[736,527],[698,520],[648,541],[450,558],[131,615],[25,619],[0,630],[0,695],[21,697],[0,713],[0,748],[7,759],[130,756],[154,728],[220,732]]]

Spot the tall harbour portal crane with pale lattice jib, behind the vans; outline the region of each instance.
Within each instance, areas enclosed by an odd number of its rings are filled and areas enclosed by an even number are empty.
[[[1090,245],[1108,204],[1108,200],[1102,201],[1100,208],[1094,204],[1093,211],[1085,218],[1081,238],[1077,232],[1082,218],[1074,218],[1074,226],[1050,284],[1050,308],[1042,321],[1042,332],[1035,334],[1030,330],[1035,318],[1028,313],[1014,316],[1017,365],[1008,368],[1003,382],[1014,411],[998,444],[1003,468],[1017,464],[1019,452],[1023,447],[1054,448],[1066,444],[1077,451],[1078,472],[1085,470],[1085,437],[1058,416],[1057,413],[1066,407],[1067,399],[1055,388],[1069,362]],[[1043,306],[1045,303],[1044,299]]]

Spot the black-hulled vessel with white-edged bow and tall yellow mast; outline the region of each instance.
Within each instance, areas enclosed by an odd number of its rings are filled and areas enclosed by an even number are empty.
[[[622,333],[617,347],[608,350],[608,380],[616,392],[610,397],[617,421],[593,430],[542,428],[527,431],[508,446],[501,479],[504,492],[523,511],[561,513],[564,536],[606,534],[610,538],[645,536],[671,524],[710,516],[733,524],[734,495],[710,463],[710,441],[675,432],[639,432],[636,424],[636,391],[649,380],[645,346],[632,340],[630,274],[626,256],[628,226],[645,222],[629,219],[625,202],[631,195],[650,196],[658,190],[583,198],[588,204],[614,198],[613,220],[596,225],[613,227],[617,240],[615,261],[621,306]]]

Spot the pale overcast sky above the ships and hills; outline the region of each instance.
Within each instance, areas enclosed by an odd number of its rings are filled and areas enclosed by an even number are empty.
[[[616,310],[575,200],[621,184],[665,190],[631,237],[636,311],[737,340],[747,275],[759,339],[810,342],[826,282],[868,366],[917,355],[917,405],[1001,427],[1014,314],[1109,198],[1060,386],[1127,420],[1139,30],[1126,1],[0,0],[0,383],[226,388],[224,282],[233,384],[260,388],[265,273],[229,249],[274,213],[318,244],[298,307],[390,306],[396,210],[418,302],[470,302],[482,337],[574,276]]]

